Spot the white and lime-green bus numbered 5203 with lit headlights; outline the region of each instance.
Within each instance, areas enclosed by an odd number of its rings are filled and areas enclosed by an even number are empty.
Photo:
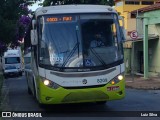
[[[97,33],[103,44],[92,47]],[[38,8],[32,20],[28,91],[39,104],[124,98],[123,38],[118,14],[109,6]]]

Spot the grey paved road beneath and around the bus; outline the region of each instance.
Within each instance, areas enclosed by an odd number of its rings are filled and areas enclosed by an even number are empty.
[[[94,117],[92,119],[94,120],[96,117],[106,117],[110,111],[131,111],[131,113],[134,113],[133,111],[151,111],[153,113],[160,111],[160,90],[126,89],[125,99],[111,101],[105,105],[97,105],[95,103],[52,105],[41,109],[33,97],[27,93],[26,79],[22,76],[6,79],[3,85],[3,94],[5,102],[4,109],[6,111],[41,111],[45,112],[47,116],[57,116],[58,118],[59,116],[65,116],[65,120],[70,116],[90,116]],[[116,114],[121,114],[121,112],[111,114],[115,114],[116,116]],[[130,114],[130,112],[123,112],[123,114]],[[160,112],[158,112],[158,115],[160,116]],[[160,119],[160,117],[158,118]],[[144,117],[141,117],[141,119],[144,120]],[[152,119],[154,120],[154,118]],[[125,117],[123,120],[128,119]],[[145,120],[150,119],[145,118]],[[157,117],[155,120],[157,120]]]

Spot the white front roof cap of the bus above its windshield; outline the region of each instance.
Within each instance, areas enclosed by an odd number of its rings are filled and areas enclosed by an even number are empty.
[[[35,11],[36,17],[45,14],[67,14],[67,13],[116,13],[116,11],[107,5],[57,5],[40,7]]]

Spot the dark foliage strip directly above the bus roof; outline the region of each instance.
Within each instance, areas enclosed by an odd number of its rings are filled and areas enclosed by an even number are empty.
[[[113,0],[45,0],[43,6],[57,5],[57,4],[100,4],[100,5],[114,5]]]

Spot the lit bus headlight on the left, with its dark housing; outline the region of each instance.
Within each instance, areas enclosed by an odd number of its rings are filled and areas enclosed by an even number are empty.
[[[47,87],[58,89],[60,86],[51,80],[44,79],[43,84]]]

